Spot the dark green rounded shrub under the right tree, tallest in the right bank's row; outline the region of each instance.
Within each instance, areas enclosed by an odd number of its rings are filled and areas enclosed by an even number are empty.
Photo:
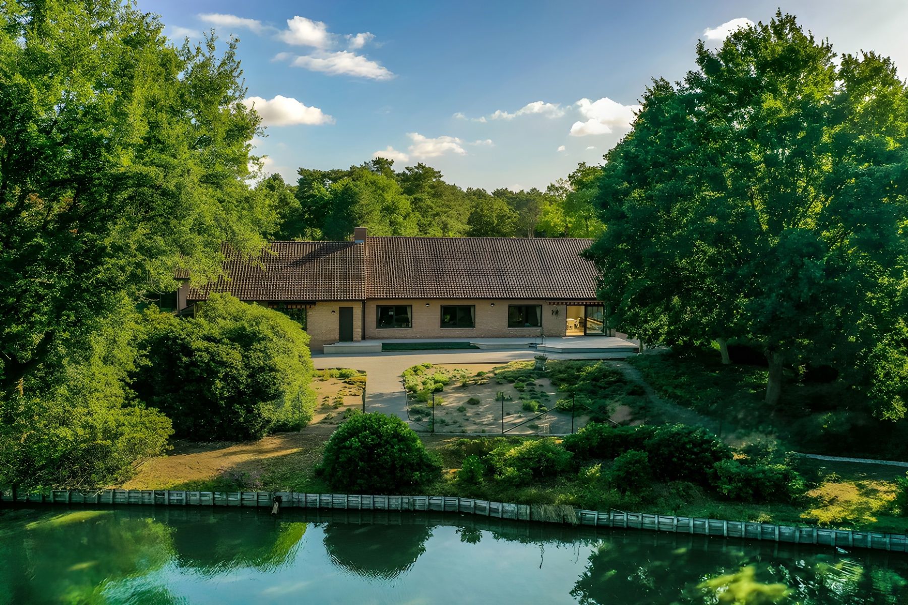
[[[659,479],[701,485],[712,483],[716,462],[732,457],[731,449],[715,434],[685,424],[658,427],[644,449]]]

